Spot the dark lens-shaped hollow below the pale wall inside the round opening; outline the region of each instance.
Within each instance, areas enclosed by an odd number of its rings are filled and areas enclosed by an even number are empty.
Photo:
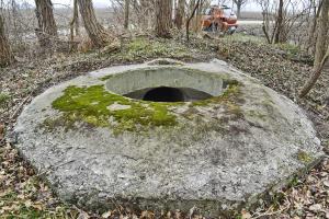
[[[191,88],[158,87],[137,90],[124,96],[152,102],[186,102],[200,101],[212,97],[203,91]]]

